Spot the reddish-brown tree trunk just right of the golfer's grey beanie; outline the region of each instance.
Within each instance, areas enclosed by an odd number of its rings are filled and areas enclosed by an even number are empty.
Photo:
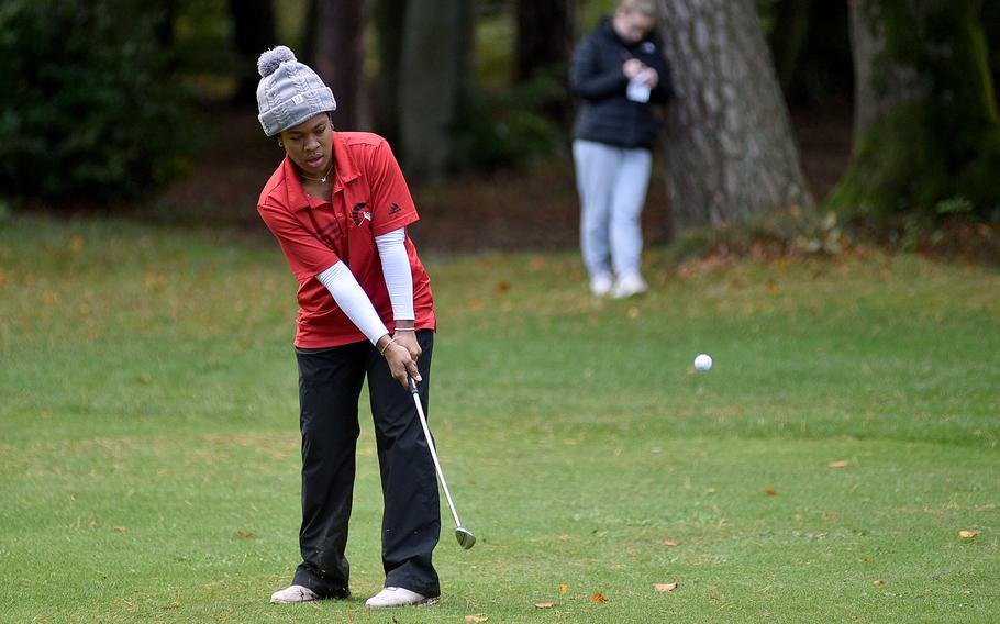
[[[314,33],[315,70],[333,89],[338,130],[366,130],[371,125],[368,83],[365,79],[364,0],[318,0]]]

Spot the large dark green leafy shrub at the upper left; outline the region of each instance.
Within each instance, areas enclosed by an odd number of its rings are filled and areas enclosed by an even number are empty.
[[[4,0],[0,188],[108,203],[185,169],[187,97],[170,79],[156,5]]]

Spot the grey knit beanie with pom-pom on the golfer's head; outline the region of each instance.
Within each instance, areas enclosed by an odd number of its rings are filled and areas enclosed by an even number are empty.
[[[336,110],[330,87],[284,45],[262,54],[257,70],[262,76],[257,85],[257,119],[264,134],[275,136],[313,115]]]

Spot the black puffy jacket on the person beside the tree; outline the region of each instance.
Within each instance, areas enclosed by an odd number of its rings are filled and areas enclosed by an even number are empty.
[[[625,97],[629,79],[622,65],[630,58],[659,74],[648,102]],[[580,42],[569,69],[569,88],[580,99],[574,137],[619,147],[652,147],[659,124],[656,104],[665,103],[674,93],[670,69],[655,31],[635,45],[625,45],[609,18]]]

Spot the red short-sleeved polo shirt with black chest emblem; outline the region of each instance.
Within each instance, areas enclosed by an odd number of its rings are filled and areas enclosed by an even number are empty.
[[[316,276],[343,260],[392,331],[392,304],[375,237],[420,219],[407,181],[385,138],[366,132],[334,132],[336,179],[329,200],[305,193],[286,156],[260,192],[257,212],[281,245],[299,280],[296,346],[322,348],[367,339],[334,302]],[[416,327],[436,328],[431,281],[410,237]]]

